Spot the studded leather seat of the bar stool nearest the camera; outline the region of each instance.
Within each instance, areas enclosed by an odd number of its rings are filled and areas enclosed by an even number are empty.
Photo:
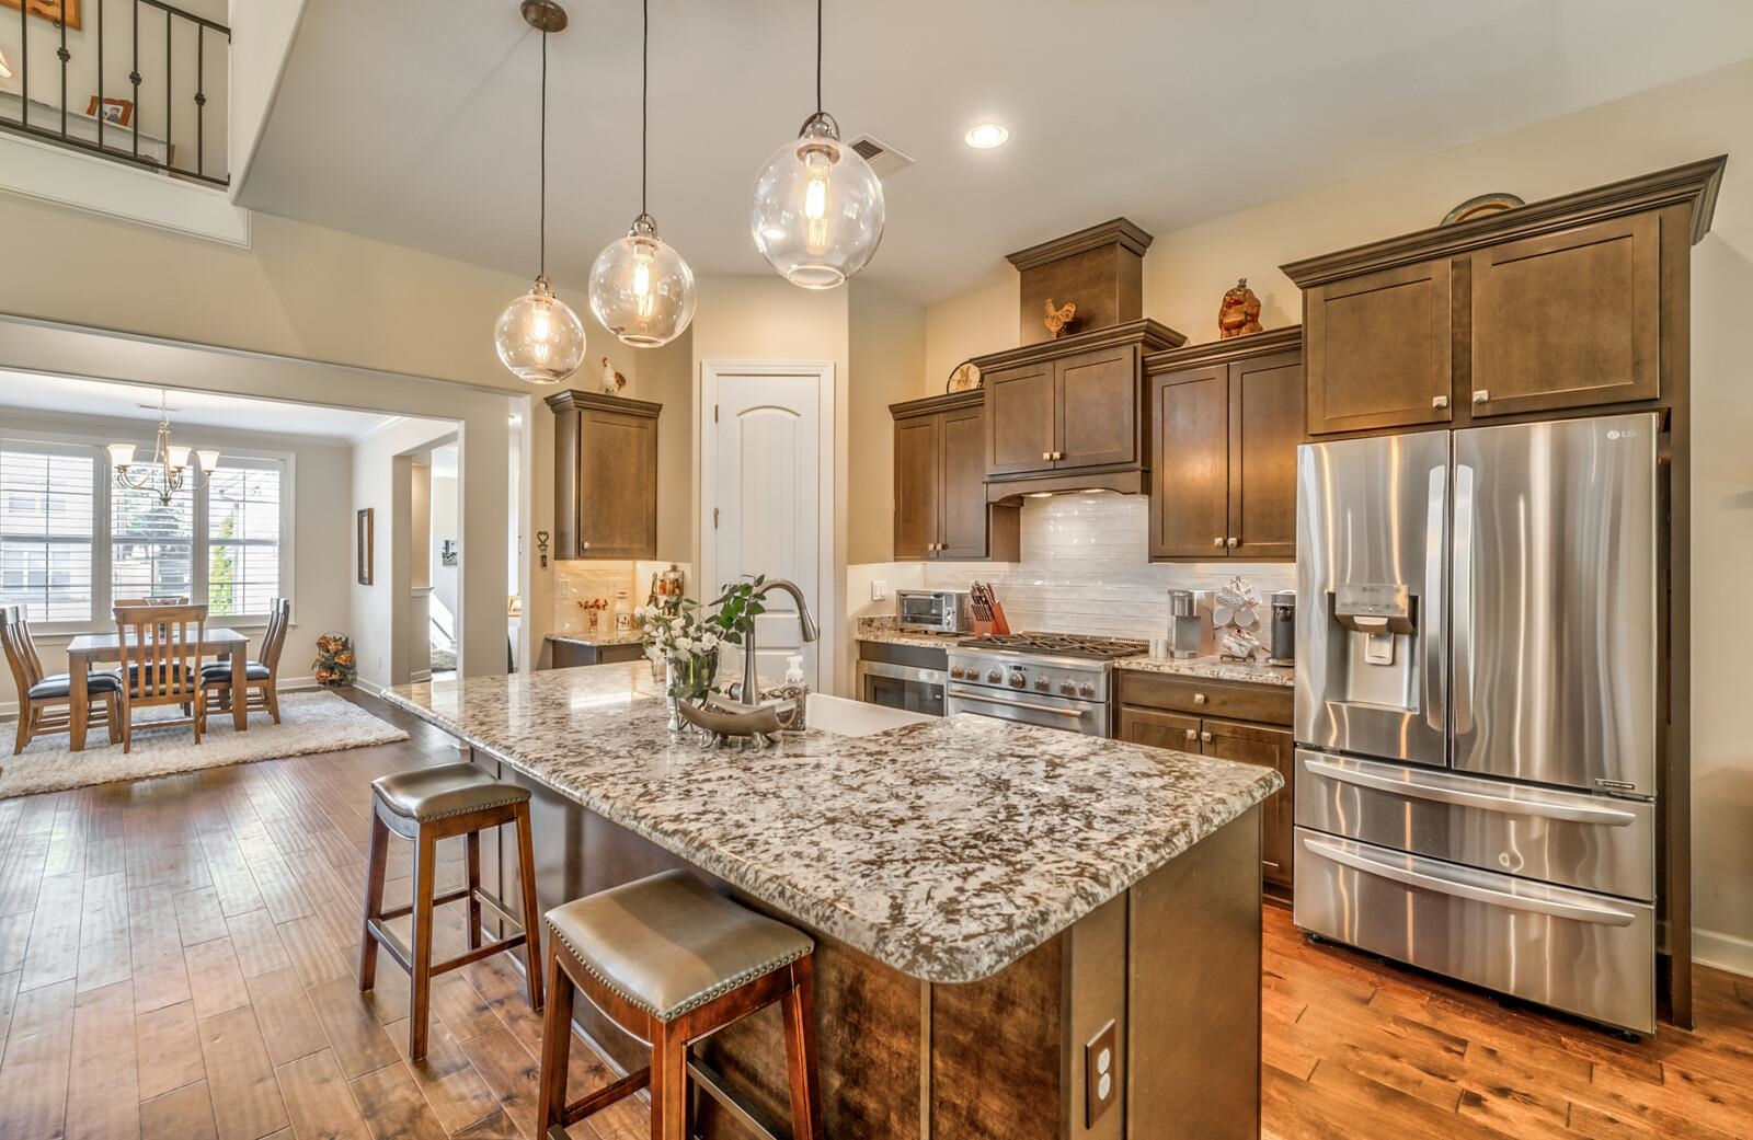
[[[810,935],[715,895],[684,870],[554,907],[547,923],[586,970],[657,1021],[815,949]]]

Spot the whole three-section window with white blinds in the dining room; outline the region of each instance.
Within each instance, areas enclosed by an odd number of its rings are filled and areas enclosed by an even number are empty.
[[[200,490],[167,504],[119,487],[96,441],[0,441],[0,604],[63,629],[107,627],[121,597],[261,618],[289,585],[291,490],[287,461],[226,455]]]

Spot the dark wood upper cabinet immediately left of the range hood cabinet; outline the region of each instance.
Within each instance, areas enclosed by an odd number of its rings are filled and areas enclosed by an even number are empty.
[[[1020,508],[987,503],[985,398],[954,392],[891,405],[894,557],[1015,562]]]

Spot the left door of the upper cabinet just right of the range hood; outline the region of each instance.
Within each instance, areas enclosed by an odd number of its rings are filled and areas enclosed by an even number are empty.
[[[1152,382],[1150,557],[1229,553],[1229,366]]]

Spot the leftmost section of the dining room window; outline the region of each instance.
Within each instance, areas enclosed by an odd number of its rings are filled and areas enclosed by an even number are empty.
[[[95,522],[88,448],[0,445],[0,604],[32,622],[89,618]]]

